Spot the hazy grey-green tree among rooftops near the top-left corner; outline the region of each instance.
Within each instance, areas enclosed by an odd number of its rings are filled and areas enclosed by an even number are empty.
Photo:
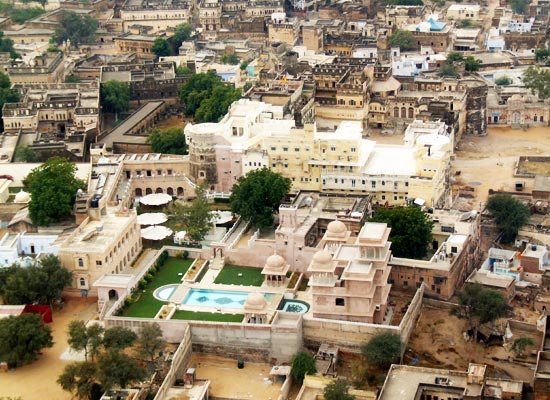
[[[73,46],[78,47],[94,41],[97,27],[97,21],[91,16],[63,10],[53,38],[57,44],[70,40]]]

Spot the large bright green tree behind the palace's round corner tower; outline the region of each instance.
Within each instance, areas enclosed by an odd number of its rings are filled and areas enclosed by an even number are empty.
[[[185,114],[197,122],[218,122],[240,97],[241,91],[226,85],[215,71],[192,75],[180,91]]]

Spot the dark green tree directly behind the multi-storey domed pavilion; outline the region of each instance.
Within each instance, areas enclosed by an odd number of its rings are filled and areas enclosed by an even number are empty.
[[[390,241],[395,257],[422,259],[432,242],[433,221],[415,206],[379,208],[373,222],[385,222],[391,228]]]

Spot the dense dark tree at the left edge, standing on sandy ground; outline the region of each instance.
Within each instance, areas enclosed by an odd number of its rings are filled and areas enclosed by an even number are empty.
[[[49,326],[38,314],[21,314],[0,319],[0,360],[19,367],[38,358],[53,346]]]

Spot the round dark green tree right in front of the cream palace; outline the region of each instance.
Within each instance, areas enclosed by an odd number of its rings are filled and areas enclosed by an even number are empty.
[[[241,176],[231,189],[231,211],[257,227],[273,225],[273,214],[290,191],[291,181],[263,167]]]

